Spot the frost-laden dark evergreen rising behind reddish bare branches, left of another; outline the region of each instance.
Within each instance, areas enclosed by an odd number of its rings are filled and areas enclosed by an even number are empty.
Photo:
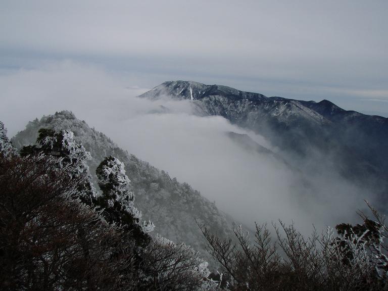
[[[90,153],[82,144],[74,139],[74,134],[68,130],[55,131],[41,128],[36,140],[39,146],[26,146],[20,151],[21,156],[44,154],[58,158],[58,167],[71,166],[71,177],[76,178],[85,175],[88,179],[83,184],[78,184],[78,196],[82,202],[92,205],[96,191],[90,181],[89,167],[86,161],[91,159]]]

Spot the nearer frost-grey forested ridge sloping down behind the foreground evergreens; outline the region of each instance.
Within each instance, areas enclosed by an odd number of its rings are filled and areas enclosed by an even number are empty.
[[[122,161],[131,180],[131,190],[135,193],[136,208],[142,212],[144,219],[155,222],[155,233],[190,245],[200,251],[209,262],[212,259],[205,251],[206,242],[196,220],[198,223],[206,223],[222,237],[232,235],[232,220],[220,212],[214,203],[201,196],[199,191],[128,154],[105,134],[90,128],[69,111],[57,112],[29,122],[26,129],[12,139],[14,146],[21,149],[35,144],[40,128],[70,130],[74,133],[75,140],[92,156],[88,165],[94,185],[98,184],[95,170],[105,157],[114,156]]]

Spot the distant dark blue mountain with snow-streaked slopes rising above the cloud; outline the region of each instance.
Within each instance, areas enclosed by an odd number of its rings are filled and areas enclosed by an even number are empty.
[[[202,116],[218,115],[270,140],[284,156],[332,158],[346,179],[368,185],[386,199],[388,119],[344,110],[333,103],[266,97],[227,86],[168,81],[141,94],[190,100]]]

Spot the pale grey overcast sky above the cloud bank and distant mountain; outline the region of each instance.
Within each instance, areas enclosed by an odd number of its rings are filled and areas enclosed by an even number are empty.
[[[71,60],[128,86],[193,80],[388,116],[386,15],[387,1],[2,0],[0,77]]]

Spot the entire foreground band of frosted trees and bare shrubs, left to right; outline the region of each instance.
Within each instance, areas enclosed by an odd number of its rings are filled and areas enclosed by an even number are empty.
[[[374,220],[307,238],[281,222],[275,239],[266,225],[235,240],[199,225],[215,275],[190,247],[150,235],[118,159],[97,168],[98,192],[71,132],[41,129],[37,143],[17,153],[0,122],[2,290],[388,289],[388,229],[371,206]]]

